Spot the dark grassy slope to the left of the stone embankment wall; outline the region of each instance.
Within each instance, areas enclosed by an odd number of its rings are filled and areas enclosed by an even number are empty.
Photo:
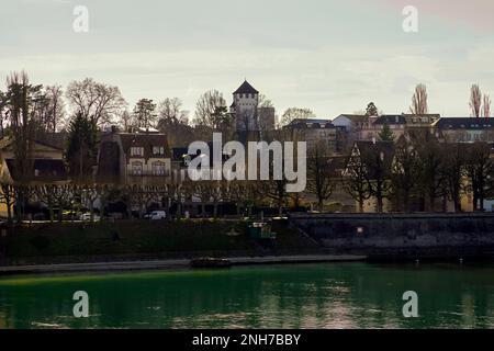
[[[226,235],[233,227],[239,236]],[[276,224],[273,229],[278,233],[277,251],[296,253],[314,249],[284,224]],[[12,229],[2,241],[0,251],[7,261],[18,263],[259,253],[246,234],[246,224],[234,222],[38,225]]]

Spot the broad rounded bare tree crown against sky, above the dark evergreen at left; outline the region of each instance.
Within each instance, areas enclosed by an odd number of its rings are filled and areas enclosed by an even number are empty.
[[[71,81],[66,97],[76,112],[81,112],[98,127],[111,124],[127,105],[117,87],[96,82],[92,78]]]

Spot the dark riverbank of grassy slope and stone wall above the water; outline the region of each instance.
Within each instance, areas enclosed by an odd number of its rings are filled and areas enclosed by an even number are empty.
[[[4,274],[184,268],[192,259],[234,264],[332,261],[494,260],[492,214],[292,215],[274,240],[252,239],[244,220],[117,220],[36,224],[0,237]],[[244,260],[244,261],[243,261]],[[245,263],[243,263],[245,262]],[[1,272],[1,271],[0,271]]]

